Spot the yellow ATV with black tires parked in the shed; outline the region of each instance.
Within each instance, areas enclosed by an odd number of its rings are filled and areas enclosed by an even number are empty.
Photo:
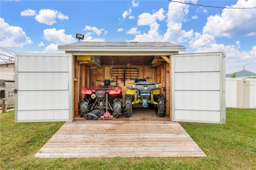
[[[159,117],[165,116],[166,101],[161,95],[163,84],[147,81],[149,77],[144,79],[131,79],[134,83],[129,83],[126,86],[124,115],[132,116],[132,107],[135,104],[141,104],[143,107],[156,109],[156,115]]]

